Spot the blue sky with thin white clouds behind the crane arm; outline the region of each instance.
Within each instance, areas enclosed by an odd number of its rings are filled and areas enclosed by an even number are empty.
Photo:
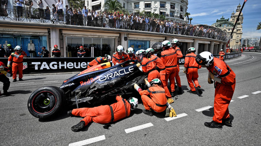
[[[244,0],[188,0],[187,12],[190,12],[192,24],[211,25],[224,15],[225,19],[230,19],[231,13],[236,12],[238,4],[241,6]],[[257,30],[258,22],[261,22],[261,0],[248,0],[242,10],[243,35],[247,37],[261,37],[261,30]]]

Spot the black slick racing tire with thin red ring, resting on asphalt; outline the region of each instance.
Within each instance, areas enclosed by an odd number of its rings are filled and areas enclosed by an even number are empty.
[[[55,86],[38,88],[28,99],[28,110],[36,118],[51,117],[61,108],[63,96],[63,91]]]

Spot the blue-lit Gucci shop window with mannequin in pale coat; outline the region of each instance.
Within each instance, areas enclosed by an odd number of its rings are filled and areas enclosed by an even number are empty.
[[[7,44],[10,44],[12,48],[19,45],[23,51],[26,52],[27,57],[40,57],[38,52],[41,53],[41,46],[47,46],[47,37],[39,35],[2,34],[0,36],[0,44],[2,44],[2,48],[4,49],[7,48]]]

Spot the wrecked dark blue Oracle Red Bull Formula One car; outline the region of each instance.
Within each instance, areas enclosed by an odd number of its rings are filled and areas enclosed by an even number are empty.
[[[28,110],[34,117],[47,118],[61,106],[76,104],[78,108],[82,102],[98,104],[117,93],[132,93],[129,87],[143,83],[147,76],[139,67],[137,60],[112,67],[109,62],[95,65],[63,81],[60,87],[44,86],[35,90],[28,99]]]

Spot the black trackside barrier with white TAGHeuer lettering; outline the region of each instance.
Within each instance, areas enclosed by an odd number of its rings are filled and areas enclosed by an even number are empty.
[[[225,60],[234,59],[241,56],[241,52],[225,54]],[[214,54],[214,57],[219,57]],[[23,74],[34,73],[61,73],[80,72],[87,69],[87,65],[95,58],[24,58]],[[0,58],[1,62],[7,65],[7,58]],[[184,65],[185,55],[179,59],[179,65]]]

